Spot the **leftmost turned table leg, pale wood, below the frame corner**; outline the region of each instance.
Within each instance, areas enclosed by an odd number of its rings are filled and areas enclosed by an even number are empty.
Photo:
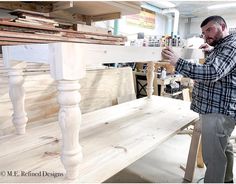
[[[9,69],[9,96],[13,105],[12,122],[17,134],[24,134],[28,121],[25,112],[25,90],[23,87],[24,77],[22,69]]]

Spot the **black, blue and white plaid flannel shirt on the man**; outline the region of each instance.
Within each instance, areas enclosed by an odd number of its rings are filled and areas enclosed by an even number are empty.
[[[179,59],[176,71],[194,79],[191,109],[199,114],[218,113],[236,119],[236,35],[219,41],[204,64]]]

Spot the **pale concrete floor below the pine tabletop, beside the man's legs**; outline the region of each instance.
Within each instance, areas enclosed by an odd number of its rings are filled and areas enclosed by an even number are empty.
[[[189,135],[176,135],[105,183],[182,183],[184,171],[180,166],[186,165],[190,141]],[[193,182],[204,173],[205,168],[196,168]]]

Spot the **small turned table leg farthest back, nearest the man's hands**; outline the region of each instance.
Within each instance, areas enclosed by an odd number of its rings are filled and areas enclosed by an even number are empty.
[[[154,62],[148,62],[147,64],[147,97],[151,98],[154,89],[153,89],[153,80],[154,80]]]

